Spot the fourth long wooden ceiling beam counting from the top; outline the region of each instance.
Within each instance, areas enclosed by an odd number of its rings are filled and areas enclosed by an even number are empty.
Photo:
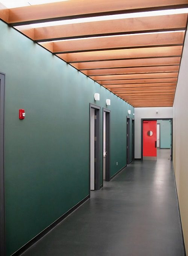
[[[182,46],[135,48],[121,50],[104,50],[94,52],[76,52],[57,54],[59,58],[69,63],[91,62],[91,61],[111,61],[117,59],[138,59],[151,57],[180,57]]]

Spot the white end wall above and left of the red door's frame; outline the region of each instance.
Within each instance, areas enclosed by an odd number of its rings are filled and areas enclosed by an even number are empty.
[[[156,113],[158,110],[158,114]],[[142,118],[172,118],[172,107],[135,108],[135,158],[141,158],[141,119]]]

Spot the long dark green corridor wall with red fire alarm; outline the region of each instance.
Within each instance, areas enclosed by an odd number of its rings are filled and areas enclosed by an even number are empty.
[[[0,31],[9,256],[89,194],[89,103],[106,108],[111,99],[111,176],[126,165],[126,116],[134,110],[2,21]],[[101,132],[101,184],[102,153]]]

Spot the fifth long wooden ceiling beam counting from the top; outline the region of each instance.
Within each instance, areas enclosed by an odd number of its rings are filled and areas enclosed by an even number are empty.
[[[148,59],[123,59],[114,61],[94,61],[72,63],[73,67],[79,70],[88,69],[108,69],[119,67],[145,67],[145,66],[164,66],[180,64],[180,57],[171,58],[148,58]]]

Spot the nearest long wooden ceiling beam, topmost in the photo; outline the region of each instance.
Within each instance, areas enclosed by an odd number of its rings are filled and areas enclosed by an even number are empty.
[[[9,10],[9,23],[15,26],[45,21],[186,8],[187,6],[187,0],[150,0],[145,2],[95,0],[89,3],[87,0],[71,0],[12,8]]]

